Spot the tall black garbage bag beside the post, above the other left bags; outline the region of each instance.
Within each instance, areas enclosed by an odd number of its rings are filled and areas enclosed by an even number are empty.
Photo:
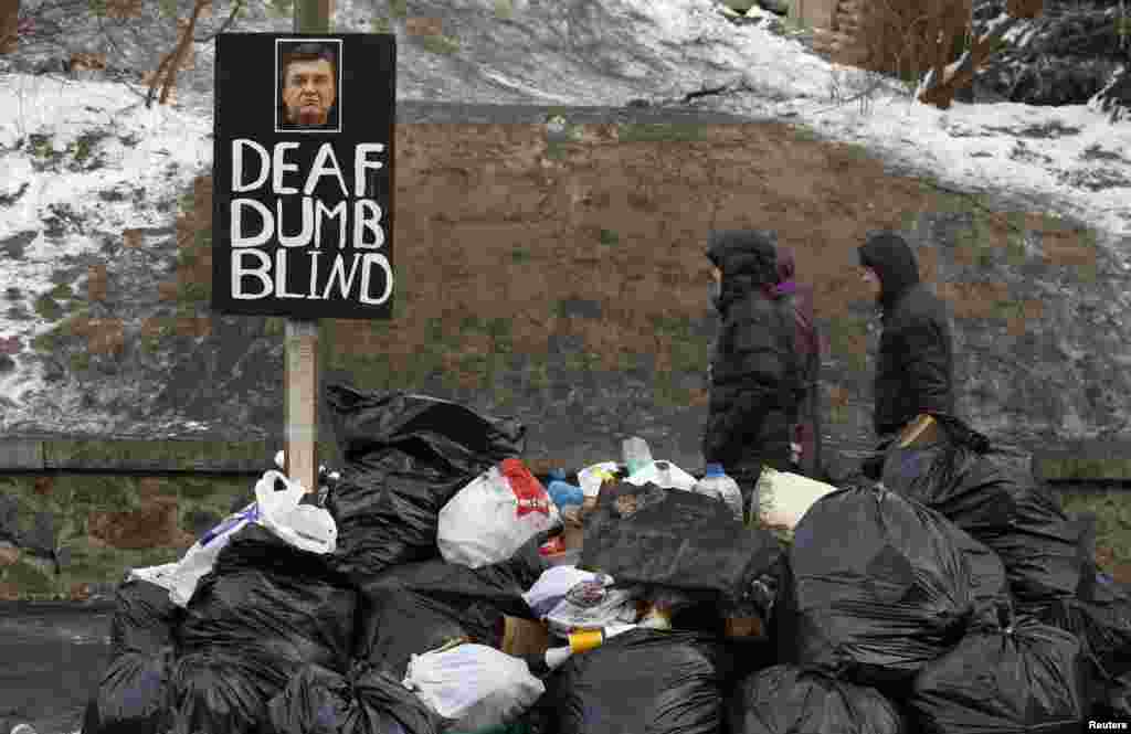
[[[346,465],[327,500],[337,567],[357,584],[439,555],[443,506],[482,472],[523,454],[526,429],[438,398],[333,385],[327,403]]]

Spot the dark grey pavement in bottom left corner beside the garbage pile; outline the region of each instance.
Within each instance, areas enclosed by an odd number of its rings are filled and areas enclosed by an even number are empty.
[[[105,605],[0,604],[0,734],[70,734],[110,660]]]

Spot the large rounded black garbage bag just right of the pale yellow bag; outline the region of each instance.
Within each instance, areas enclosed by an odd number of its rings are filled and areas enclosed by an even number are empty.
[[[838,490],[794,532],[779,662],[863,685],[906,681],[961,639],[970,569],[949,521],[882,487]]]

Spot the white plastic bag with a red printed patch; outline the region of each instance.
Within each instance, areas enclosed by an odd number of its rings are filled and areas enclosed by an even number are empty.
[[[504,459],[440,510],[437,545],[449,563],[477,569],[510,559],[530,538],[561,525],[558,507],[518,459]]]

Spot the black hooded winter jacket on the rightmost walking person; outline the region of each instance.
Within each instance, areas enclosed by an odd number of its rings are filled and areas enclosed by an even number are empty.
[[[884,233],[860,248],[880,276],[883,333],[875,371],[877,434],[893,433],[921,413],[955,415],[953,347],[943,302],[920,282],[915,254]]]

